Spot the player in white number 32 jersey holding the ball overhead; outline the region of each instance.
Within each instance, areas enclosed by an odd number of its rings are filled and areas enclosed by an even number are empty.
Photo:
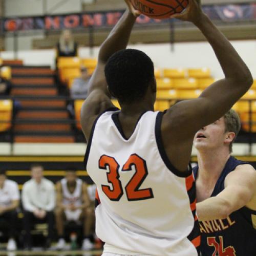
[[[84,164],[97,185],[96,234],[105,242],[104,256],[195,256],[200,235],[195,181],[188,167],[193,138],[231,108],[250,88],[252,77],[203,13],[200,1],[190,0],[187,10],[176,17],[201,30],[225,78],[197,99],[154,112],[153,62],[141,51],[125,50],[138,15],[126,3],[129,9],[100,47],[81,110],[88,141]]]

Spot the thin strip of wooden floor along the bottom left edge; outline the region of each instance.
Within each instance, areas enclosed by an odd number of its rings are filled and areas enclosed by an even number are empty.
[[[102,253],[101,250],[93,251],[0,251],[0,255],[5,256],[100,256]]]

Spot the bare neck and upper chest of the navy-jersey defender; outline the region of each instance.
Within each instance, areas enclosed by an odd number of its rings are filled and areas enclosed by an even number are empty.
[[[198,152],[198,179],[205,183],[216,183],[230,157],[227,148]]]

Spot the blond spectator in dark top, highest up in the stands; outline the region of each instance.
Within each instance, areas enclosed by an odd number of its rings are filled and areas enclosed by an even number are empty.
[[[77,43],[70,30],[63,30],[57,44],[57,57],[77,56]]]

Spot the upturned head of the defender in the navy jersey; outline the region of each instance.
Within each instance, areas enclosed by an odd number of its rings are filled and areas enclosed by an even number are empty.
[[[231,153],[240,127],[238,114],[229,110],[223,117],[199,130],[195,135],[194,145],[199,151],[225,146]]]

